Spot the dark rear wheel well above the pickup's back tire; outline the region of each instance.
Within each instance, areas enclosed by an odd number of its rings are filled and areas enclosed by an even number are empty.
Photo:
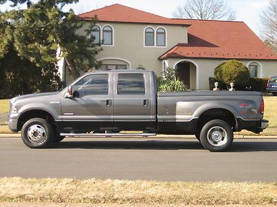
[[[224,108],[213,108],[210,110],[206,110],[205,112],[202,113],[202,115],[200,115],[197,121],[197,132],[200,133],[203,126],[206,123],[208,123],[208,121],[211,121],[214,119],[220,119],[220,120],[226,121],[231,126],[232,130],[233,131],[235,130],[236,120],[233,113]]]

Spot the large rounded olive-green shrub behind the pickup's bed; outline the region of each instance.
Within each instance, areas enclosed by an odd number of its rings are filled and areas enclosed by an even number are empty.
[[[250,73],[246,66],[235,59],[221,63],[215,68],[215,79],[223,83],[244,86],[249,83]]]

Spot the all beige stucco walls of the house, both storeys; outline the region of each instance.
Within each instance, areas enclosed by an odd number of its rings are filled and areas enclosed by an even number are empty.
[[[102,29],[111,26],[114,32],[113,46],[103,46],[96,59],[102,63],[123,64],[129,68],[136,68],[140,64],[148,70],[154,70],[161,76],[162,61],[158,57],[177,43],[187,43],[187,28],[182,26],[151,25],[139,23],[98,23]],[[166,47],[145,47],[144,30],[148,26],[157,30],[166,30]],[[89,27],[89,23],[79,32],[82,33]],[[156,35],[155,35],[156,36]],[[190,89],[208,90],[208,78],[213,77],[213,72],[224,59],[167,59],[168,67],[173,68],[179,61],[189,61],[190,64]],[[240,60],[245,66],[251,62],[258,65],[258,77],[271,77],[277,75],[277,61],[251,61]],[[83,72],[81,72],[82,74]],[[73,81],[69,71],[66,71],[66,83]]]

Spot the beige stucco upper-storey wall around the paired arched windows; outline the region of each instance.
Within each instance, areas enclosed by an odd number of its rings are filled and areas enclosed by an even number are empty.
[[[114,31],[114,46],[102,45],[102,51],[96,59],[123,59],[129,62],[132,68],[139,64],[159,73],[161,71],[161,61],[158,57],[177,43],[187,43],[187,28],[183,26],[153,25],[142,23],[97,23],[100,28],[111,26]],[[89,23],[84,25],[84,29],[89,27]],[[152,27],[164,28],[166,30],[166,47],[144,46],[144,30]],[[82,31],[80,31],[82,32]],[[155,35],[156,36],[156,35]]]

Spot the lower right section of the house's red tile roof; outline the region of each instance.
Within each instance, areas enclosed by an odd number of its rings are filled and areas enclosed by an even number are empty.
[[[188,43],[178,43],[159,59],[277,59],[277,55],[242,21],[183,21],[191,24]]]

